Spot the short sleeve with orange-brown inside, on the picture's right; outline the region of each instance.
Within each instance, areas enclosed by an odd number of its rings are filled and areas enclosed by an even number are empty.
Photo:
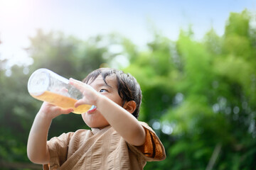
[[[154,130],[152,130],[149,125],[146,123],[140,122],[146,132],[146,141],[144,145],[135,147],[129,145],[129,148],[132,149],[133,152],[137,152],[137,154],[142,155],[146,159],[146,161],[161,161],[166,158],[166,153],[164,150],[164,145],[157,137]]]

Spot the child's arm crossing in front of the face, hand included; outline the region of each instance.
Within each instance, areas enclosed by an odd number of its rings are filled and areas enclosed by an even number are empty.
[[[108,123],[121,135],[124,140],[131,145],[143,145],[146,139],[146,133],[139,121],[134,118],[132,113],[136,108],[136,103],[130,101],[127,110],[119,106],[106,96],[95,91],[92,86],[82,83],[74,79],[70,79],[70,84],[82,91],[84,97],[75,103],[75,107],[81,104],[89,104],[97,106]],[[135,105],[135,107],[134,107]]]

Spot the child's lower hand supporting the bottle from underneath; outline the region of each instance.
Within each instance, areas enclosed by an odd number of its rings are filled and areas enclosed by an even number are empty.
[[[59,108],[58,106],[54,106],[48,102],[43,102],[39,114],[43,115],[44,118],[53,119],[61,114],[68,114],[70,112],[73,112],[73,108],[63,109]]]

